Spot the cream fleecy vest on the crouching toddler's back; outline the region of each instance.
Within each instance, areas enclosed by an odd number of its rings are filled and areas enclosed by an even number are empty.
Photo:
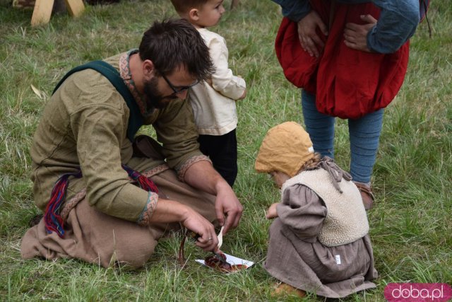
[[[369,222],[356,185],[345,179],[338,182],[342,193],[331,183],[333,178],[324,169],[303,171],[287,180],[281,189],[305,185],[325,202],[327,214],[319,233],[319,241],[328,247],[352,243],[369,233]],[[283,194],[281,194],[283,196]]]

